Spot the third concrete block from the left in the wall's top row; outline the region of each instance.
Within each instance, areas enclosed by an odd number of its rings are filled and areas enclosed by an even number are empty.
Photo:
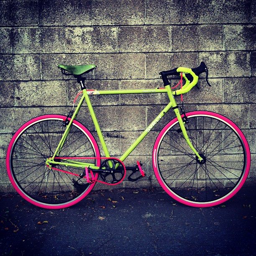
[[[141,25],[145,23],[144,15],[143,1],[92,1],[92,24],[94,25]]]

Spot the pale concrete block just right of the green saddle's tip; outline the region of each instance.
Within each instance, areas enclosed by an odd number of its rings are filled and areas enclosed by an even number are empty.
[[[93,55],[95,79],[141,79],[145,76],[145,54]]]

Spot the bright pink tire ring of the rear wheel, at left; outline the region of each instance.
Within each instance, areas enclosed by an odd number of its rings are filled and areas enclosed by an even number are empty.
[[[31,125],[32,123],[36,122],[36,121],[39,121],[39,120],[42,120],[42,119],[47,119],[47,118],[58,118],[58,119],[62,119],[62,120],[65,120],[67,117],[64,116],[64,115],[54,115],[54,114],[50,114],[50,115],[41,115],[41,116],[38,116],[36,118],[33,118],[31,120],[29,120],[28,122],[24,123],[19,129],[18,131],[16,131],[16,133],[14,134],[13,138],[11,139],[10,141],[10,144],[8,146],[8,150],[7,150],[7,154],[6,154],[6,168],[7,168],[7,173],[8,173],[8,177],[10,179],[10,182],[11,184],[13,185],[13,187],[15,188],[15,190],[19,193],[19,195],[21,197],[23,197],[26,201],[30,202],[31,204],[33,205],[36,205],[38,207],[42,207],[42,208],[46,208],[46,209],[62,209],[62,208],[66,208],[66,207],[70,207],[76,203],[78,203],[79,201],[81,201],[84,197],[86,197],[90,192],[91,190],[93,189],[93,187],[95,186],[96,182],[92,183],[90,185],[90,187],[88,187],[88,189],[81,195],[79,196],[77,199],[75,199],[74,201],[71,201],[71,202],[68,202],[66,204],[60,204],[60,205],[47,205],[47,204],[44,204],[44,203],[40,203],[40,202],[36,202],[35,200],[31,199],[31,197],[28,197],[19,187],[18,185],[16,184],[14,178],[13,178],[13,175],[12,175],[12,172],[11,172],[11,167],[10,167],[10,154],[11,154],[11,151],[12,151],[12,148],[13,148],[13,143],[15,143],[17,137],[20,135],[20,133],[22,133],[25,128],[28,126],[28,125]],[[95,154],[96,154],[96,157],[100,157],[100,150],[99,150],[99,147],[97,145],[97,142],[95,141],[95,138],[92,136],[92,134],[90,133],[90,131],[84,126],[82,125],[81,123],[79,123],[77,120],[74,120],[73,123],[75,125],[77,125],[79,128],[82,129],[82,131],[84,131],[87,136],[90,138],[90,141],[92,142],[92,145],[94,146],[95,148]],[[97,162],[97,166],[99,166],[99,162]],[[95,178],[97,179],[98,178],[98,175],[99,174],[95,174]]]

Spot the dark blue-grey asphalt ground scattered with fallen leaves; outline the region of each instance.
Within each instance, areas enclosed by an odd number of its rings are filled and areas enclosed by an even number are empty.
[[[223,205],[182,205],[162,189],[93,191],[46,210],[0,197],[2,255],[256,255],[255,188]]]

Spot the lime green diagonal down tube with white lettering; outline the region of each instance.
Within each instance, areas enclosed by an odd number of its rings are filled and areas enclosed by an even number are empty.
[[[138,144],[146,137],[146,135],[151,131],[151,129],[159,122],[159,120],[172,108],[172,102],[161,111],[161,113],[154,119],[154,121],[148,125],[145,131],[133,142],[133,144],[125,151],[123,156],[120,157],[120,160],[123,162],[129,154],[138,146]]]

